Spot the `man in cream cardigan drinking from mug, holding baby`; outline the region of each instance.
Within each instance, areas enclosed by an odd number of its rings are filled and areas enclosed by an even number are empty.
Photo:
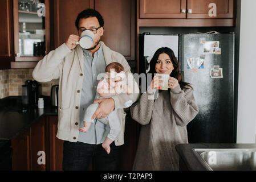
[[[138,85],[132,77],[135,92],[128,96],[120,94],[112,98],[94,101],[96,86],[99,80],[97,75],[105,72],[105,67],[112,62],[123,65],[125,75],[131,73],[127,61],[120,53],[112,51],[100,37],[104,33],[104,20],[96,10],[86,9],[76,19],[78,35],[70,35],[66,43],[51,51],[36,65],[32,76],[39,82],[47,82],[59,78],[59,139],[63,144],[63,169],[86,170],[94,158],[96,170],[116,170],[120,145],[124,144],[125,102],[135,102],[139,97]],[[90,49],[83,49],[79,42],[84,30],[94,33],[94,44]],[[79,131],[83,126],[83,116],[87,107],[99,103],[92,123],[87,133]],[[108,116],[117,110],[121,121],[121,131],[115,142],[111,144],[111,152],[107,154],[101,143],[109,133],[109,125],[98,119]]]

